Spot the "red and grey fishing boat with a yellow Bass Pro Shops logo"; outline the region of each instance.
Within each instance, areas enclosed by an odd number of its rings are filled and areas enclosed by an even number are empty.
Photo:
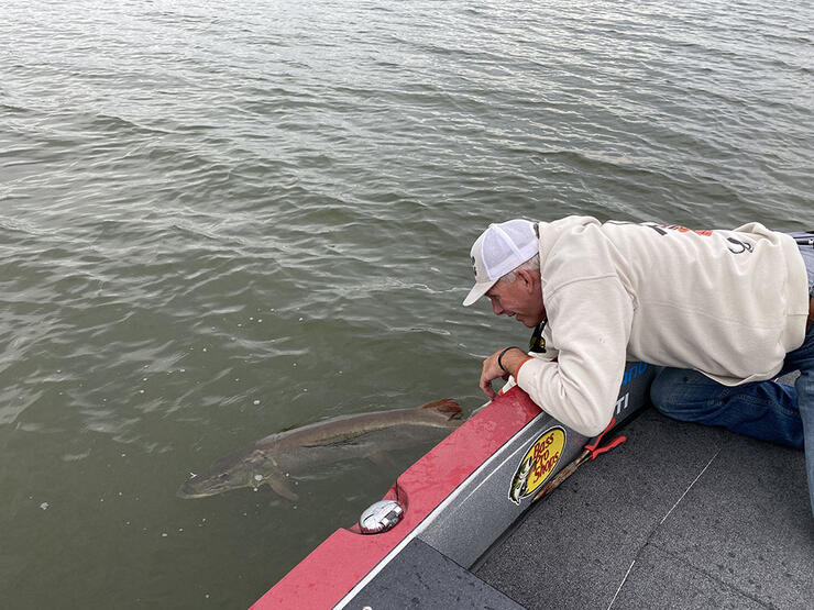
[[[594,439],[503,393],[252,608],[806,607],[802,452],[647,409],[654,373]]]

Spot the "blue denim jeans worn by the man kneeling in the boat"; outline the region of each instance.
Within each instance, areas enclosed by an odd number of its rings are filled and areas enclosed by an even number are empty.
[[[810,264],[814,256],[806,254],[809,286],[814,291],[814,264]],[[780,376],[794,370],[800,371],[794,386],[777,381],[724,386],[695,370],[664,368],[650,387],[650,399],[659,411],[676,420],[723,425],[755,439],[805,448],[814,514],[814,324],[803,344],[785,355]]]

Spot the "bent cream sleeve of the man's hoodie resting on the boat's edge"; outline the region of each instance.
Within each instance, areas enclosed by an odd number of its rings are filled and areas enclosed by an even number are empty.
[[[517,384],[543,411],[586,436],[610,422],[625,370],[634,306],[618,277],[568,282],[546,301],[557,362],[528,361]]]

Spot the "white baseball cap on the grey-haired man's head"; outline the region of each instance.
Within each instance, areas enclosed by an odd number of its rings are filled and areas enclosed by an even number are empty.
[[[475,286],[463,301],[469,307],[483,297],[495,282],[516,269],[539,252],[539,240],[535,223],[527,220],[509,220],[490,224],[488,229],[472,244],[472,266]]]

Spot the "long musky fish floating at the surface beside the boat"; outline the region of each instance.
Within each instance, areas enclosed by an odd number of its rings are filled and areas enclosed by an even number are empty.
[[[292,488],[289,476],[308,473],[316,464],[330,464],[360,455],[374,457],[392,450],[398,441],[404,443],[410,437],[409,434],[397,434],[396,429],[457,428],[461,424],[461,420],[455,418],[460,412],[461,407],[454,400],[444,399],[416,409],[339,415],[271,434],[218,459],[206,473],[193,475],[180,486],[178,496],[205,498],[240,487],[256,489],[266,484],[284,498],[296,500],[297,493]],[[376,443],[370,442],[373,433],[389,429],[394,429],[394,434],[377,435]],[[411,442],[416,442],[415,435]]]

